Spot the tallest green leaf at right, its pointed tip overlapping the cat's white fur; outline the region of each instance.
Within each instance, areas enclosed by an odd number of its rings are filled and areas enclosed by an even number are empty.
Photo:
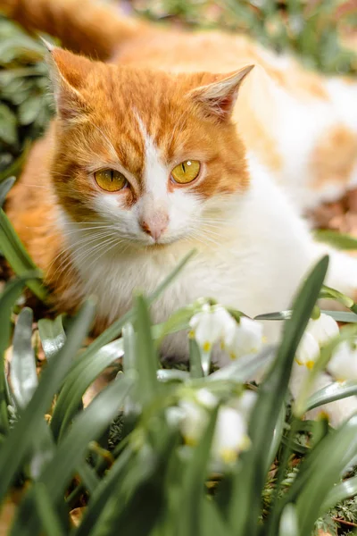
[[[319,297],[327,269],[328,257],[324,257],[298,292],[292,317],[284,326],[278,355],[260,385],[249,423],[248,435],[252,448],[241,456],[242,470],[235,477],[234,493],[229,503],[229,521],[237,536],[247,533],[255,536],[259,531],[261,495],[271,456],[266,446],[271,444],[286,397],[295,351]],[[270,523],[269,533],[275,536],[278,533],[278,520],[270,516]]]

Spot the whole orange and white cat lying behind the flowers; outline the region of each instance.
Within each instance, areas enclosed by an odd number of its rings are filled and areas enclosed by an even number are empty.
[[[57,117],[7,202],[58,310],[95,295],[102,331],[193,247],[154,322],[198,297],[251,316],[286,309],[325,253],[328,285],[355,295],[357,261],[315,243],[303,214],[357,183],[356,83],[95,2],[0,8],[71,48],[50,46]],[[266,327],[277,340],[280,324]],[[162,352],[185,358],[185,337]]]

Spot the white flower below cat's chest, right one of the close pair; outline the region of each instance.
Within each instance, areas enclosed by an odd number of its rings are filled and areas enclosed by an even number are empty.
[[[262,323],[242,316],[235,331],[226,335],[224,348],[232,359],[258,353],[262,349]]]

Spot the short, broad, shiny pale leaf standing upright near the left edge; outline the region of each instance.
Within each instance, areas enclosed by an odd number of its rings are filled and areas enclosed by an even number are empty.
[[[29,404],[38,385],[36,358],[31,341],[32,321],[32,310],[25,307],[19,314],[13,333],[10,377],[13,396],[21,408]]]

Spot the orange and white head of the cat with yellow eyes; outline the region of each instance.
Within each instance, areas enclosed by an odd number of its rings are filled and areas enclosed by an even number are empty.
[[[252,66],[225,75],[92,62],[52,51],[54,188],[74,222],[111,227],[138,247],[219,234],[225,199],[248,184],[231,121]],[[217,217],[220,214],[220,217]]]

